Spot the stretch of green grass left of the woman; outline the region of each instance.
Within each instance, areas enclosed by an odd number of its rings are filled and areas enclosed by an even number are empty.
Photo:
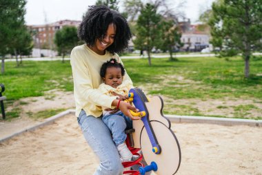
[[[63,89],[72,91],[72,72],[69,62],[6,62],[6,71],[0,75],[0,82],[6,87],[3,93],[8,100],[43,95],[44,91]]]

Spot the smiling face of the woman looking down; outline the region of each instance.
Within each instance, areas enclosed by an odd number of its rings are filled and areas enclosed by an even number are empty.
[[[94,46],[92,46],[91,49],[99,55],[105,55],[105,49],[108,48],[114,42],[116,30],[117,28],[116,26],[114,26],[114,24],[109,24],[108,30],[106,30],[105,35],[101,38],[97,38],[94,43]]]

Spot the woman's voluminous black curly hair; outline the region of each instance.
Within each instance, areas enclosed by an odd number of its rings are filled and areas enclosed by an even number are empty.
[[[110,53],[122,52],[128,47],[132,34],[128,21],[119,12],[110,10],[106,6],[90,6],[79,25],[77,35],[86,44],[94,46],[96,39],[102,38],[108,30],[109,24],[117,27],[114,43],[106,50]]]

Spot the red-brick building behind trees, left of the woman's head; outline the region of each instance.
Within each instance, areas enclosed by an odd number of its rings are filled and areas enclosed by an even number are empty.
[[[54,35],[56,31],[63,28],[63,26],[78,27],[80,23],[81,21],[66,19],[52,24],[28,26],[32,31],[34,48],[54,50]]]

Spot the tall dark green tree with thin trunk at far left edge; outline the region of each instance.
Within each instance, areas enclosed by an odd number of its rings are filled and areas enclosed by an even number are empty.
[[[4,73],[4,59],[14,50],[14,36],[25,26],[26,0],[0,0],[0,56],[1,73]]]

